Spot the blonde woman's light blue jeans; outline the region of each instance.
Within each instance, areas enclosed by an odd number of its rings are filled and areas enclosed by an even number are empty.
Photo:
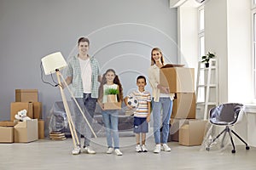
[[[154,121],[154,142],[155,144],[166,144],[169,135],[169,124],[172,114],[172,100],[170,98],[160,98],[159,102],[152,100],[153,106],[153,121]],[[161,124],[161,109],[162,109],[162,124]],[[162,128],[162,141],[160,141],[160,127]]]

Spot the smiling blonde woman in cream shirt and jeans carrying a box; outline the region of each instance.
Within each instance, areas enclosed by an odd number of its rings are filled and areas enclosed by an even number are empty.
[[[172,113],[172,99],[174,94],[169,93],[169,88],[160,84],[160,68],[164,66],[163,54],[160,48],[153,48],[151,51],[151,66],[148,69],[148,79],[152,88],[152,105],[154,121],[154,153],[160,153],[161,143],[165,151],[171,151],[167,145],[169,134],[170,117]],[[162,141],[160,140],[162,110]]]

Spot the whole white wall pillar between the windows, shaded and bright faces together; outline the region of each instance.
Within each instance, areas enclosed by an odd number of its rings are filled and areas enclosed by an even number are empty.
[[[251,101],[250,1],[207,1],[205,24],[206,51],[218,58],[219,102]]]

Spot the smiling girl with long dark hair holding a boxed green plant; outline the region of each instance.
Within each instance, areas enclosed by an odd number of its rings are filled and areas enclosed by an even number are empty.
[[[113,150],[116,155],[122,156],[122,152],[119,150],[119,132],[118,132],[118,123],[119,123],[119,111],[118,110],[104,110],[104,103],[107,102],[107,95],[105,94],[106,90],[109,88],[114,88],[119,91],[117,94],[117,100],[123,100],[123,89],[122,85],[119,82],[119,77],[115,74],[113,69],[108,69],[106,73],[102,76],[102,82],[99,88],[99,98],[98,103],[102,107],[102,117],[103,122],[106,127],[106,136],[108,143],[107,154],[111,154]],[[112,142],[113,139],[113,142]]]

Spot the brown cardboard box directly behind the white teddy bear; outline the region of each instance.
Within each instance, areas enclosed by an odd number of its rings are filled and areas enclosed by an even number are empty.
[[[12,102],[10,105],[10,120],[15,120],[18,111],[26,109],[26,116],[33,118],[33,105],[31,102]]]

